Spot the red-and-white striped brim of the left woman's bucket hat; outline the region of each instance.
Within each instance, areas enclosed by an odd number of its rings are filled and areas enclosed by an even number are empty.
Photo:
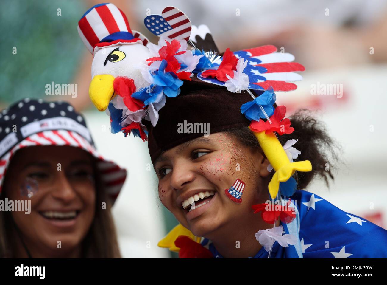
[[[8,151],[7,154],[5,154],[0,160],[0,193],[2,191],[5,173],[15,152],[24,147],[39,145],[68,145],[78,147],[98,158],[97,169],[103,183],[103,188],[107,191],[113,201],[116,199],[123,183],[125,182],[127,171],[120,168],[114,162],[105,161],[104,158],[98,154],[95,147],[91,145],[83,136],[70,130],[48,130],[35,133],[28,136],[25,140],[18,143],[10,151]]]

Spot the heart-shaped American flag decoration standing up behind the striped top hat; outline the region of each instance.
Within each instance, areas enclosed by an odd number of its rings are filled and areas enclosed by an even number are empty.
[[[146,16],[144,24],[156,36],[186,41],[190,38],[190,19],[182,11],[172,6],[165,7],[161,15]]]

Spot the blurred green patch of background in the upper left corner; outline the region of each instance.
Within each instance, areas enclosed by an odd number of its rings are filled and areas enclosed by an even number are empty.
[[[0,104],[46,97],[45,85],[52,81],[72,83],[85,54],[77,32],[85,10],[76,0],[0,2]]]

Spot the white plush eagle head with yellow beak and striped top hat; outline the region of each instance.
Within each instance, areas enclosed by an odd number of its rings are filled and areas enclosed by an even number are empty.
[[[104,111],[115,96],[113,81],[117,76],[143,85],[137,66],[145,64],[150,52],[147,38],[130,29],[123,12],[111,3],[91,7],[78,22],[78,33],[93,54],[89,95],[99,111]]]

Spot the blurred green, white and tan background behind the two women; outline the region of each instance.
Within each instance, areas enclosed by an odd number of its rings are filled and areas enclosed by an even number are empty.
[[[387,1],[110,2],[153,43],[158,38],[147,31],[144,17],[175,6],[192,24],[209,27],[220,52],[272,44],[295,55],[306,68],[303,80],[293,92],[278,92],[277,103],[286,105],[287,115],[299,108],[315,110],[342,147],[341,162],[329,166],[334,182],[327,187],[316,180],[306,190],[387,228]],[[77,23],[98,3],[0,2],[0,109],[30,97],[68,101],[83,112],[99,151],[129,172],[113,208],[123,257],[169,257],[157,242],[177,221],[159,202],[147,144],[111,134],[108,116],[89,100],[92,55],[78,36]],[[77,97],[46,95],[52,81],[77,84]]]

